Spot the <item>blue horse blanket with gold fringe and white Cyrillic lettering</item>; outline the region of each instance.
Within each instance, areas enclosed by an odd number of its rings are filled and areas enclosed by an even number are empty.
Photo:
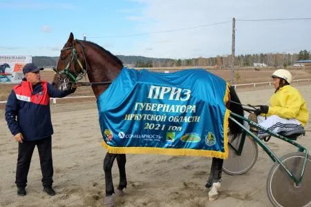
[[[102,145],[111,153],[227,159],[228,92],[203,69],[122,68],[97,99]]]

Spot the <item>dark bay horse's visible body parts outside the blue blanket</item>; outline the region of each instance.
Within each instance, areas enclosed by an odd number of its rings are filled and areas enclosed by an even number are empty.
[[[57,68],[54,68],[56,74],[53,79],[53,86],[58,90],[68,90],[76,84],[79,85],[79,80],[88,75],[93,93],[98,98],[108,87],[111,82],[120,74],[123,68],[123,63],[115,55],[111,54],[101,46],[91,41],[82,41],[74,39],[73,33],[70,33],[67,42],[61,50]],[[81,84],[80,84],[81,85]],[[232,100],[226,103],[226,107],[238,115],[243,115],[243,108],[241,106],[238,95],[234,87],[229,88],[229,99]],[[239,121],[241,123],[241,121]],[[243,124],[243,122],[241,123]],[[241,128],[238,124],[229,119],[229,131],[232,136],[238,136],[241,133]],[[117,159],[117,166],[120,172],[120,183],[117,189],[113,187],[113,179],[111,168],[114,160]],[[104,204],[107,206],[114,206],[114,195],[123,195],[123,189],[126,188],[126,155],[114,154],[107,152],[104,157],[104,173],[105,173],[105,187],[106,197]],[[209,193],[213,191],[214,184],[220,184],[221,172],[223,166],[223,159],[212,159],[211,173],[207,180],[205,187],[211,188]],[[214,193],[218,194],[217,190],[220,186],[216,186]],[[216,191],[216,192],[215,192]]]

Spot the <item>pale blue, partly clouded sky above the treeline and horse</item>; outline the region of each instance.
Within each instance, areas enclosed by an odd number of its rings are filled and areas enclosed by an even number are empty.
[[[192,58],[311,50],[310,0],[0,1],[0,55],[59,56],[70,32],[114,55]]]

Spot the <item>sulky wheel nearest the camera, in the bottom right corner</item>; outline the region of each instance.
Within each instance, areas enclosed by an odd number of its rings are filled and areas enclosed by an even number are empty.
[[[303,152],[294,152],[281,157],[294,177],[298,178],[303,167]],[[301,184],[294,180],[275,162],[267,178],[267,195],[274,206],[311,206],[311,158],[308,156]]]

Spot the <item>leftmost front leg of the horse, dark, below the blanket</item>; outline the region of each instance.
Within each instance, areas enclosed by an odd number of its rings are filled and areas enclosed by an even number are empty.
[[[115,157],[117,157],[117,155],[107,152],[104,159],[104,172],[106,183],[106,197],[104,204],[109,207],[114,206],[115,204],[115,199],[113,197],[113,193],[115,193],[115,190],[113,189],[113,179],[111,174],[111,168],[113,166],[113,161],[115,161]]]

